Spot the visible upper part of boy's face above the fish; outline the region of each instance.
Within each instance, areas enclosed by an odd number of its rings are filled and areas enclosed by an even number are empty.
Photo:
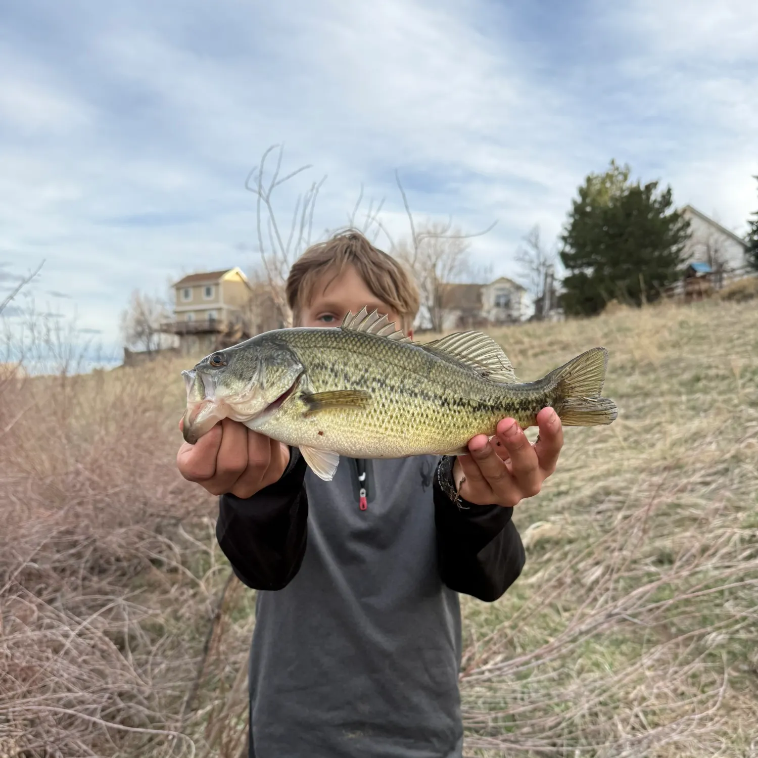
[[[365,306],[379,315],[387,315],[398,328],[402,328],[400,317],[384,302],[381,302],[353,266],[346,266],[342,274],[334,277],[327,271],[313,288],[313,296],[308,305],[300,311],[301,327],[338,327],[348,312],[358,313]],[[409,334],[412,334],[409,331]]]

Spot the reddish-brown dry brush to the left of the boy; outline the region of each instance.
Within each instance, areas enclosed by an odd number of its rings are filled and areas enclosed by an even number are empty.
[[[2,756],[202,745],[186,700],[228,566],[174,465],[178,368],[2,379]]]

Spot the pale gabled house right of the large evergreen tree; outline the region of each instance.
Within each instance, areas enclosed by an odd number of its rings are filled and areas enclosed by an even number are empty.
[[[718,288],[723,275],[742,272],[747,268],[747,242],[722,227],[692,205],[685,205],[681,214],[690,222],[690,237],[684,246],[684,263],[705,263],[713,271]]]

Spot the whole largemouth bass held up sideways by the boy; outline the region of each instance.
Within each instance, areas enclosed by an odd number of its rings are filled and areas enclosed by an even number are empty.
[[[608,351],[595,347],[532,382],[519,382],[492,337],[463,331],[427,343],[377,311],[339,327],[275,329],[217,350],[182,371],[186,442],[223,418],[296,447],[330,481],[340,456],[460,455],[498,421],[522,429],[552,406],[564,426],[615,421],[601,395]]]

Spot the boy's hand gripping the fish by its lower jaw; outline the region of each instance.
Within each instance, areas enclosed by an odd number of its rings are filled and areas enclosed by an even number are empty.
[[[181,429],[183,421],[179,422]],[[183,443],[177,453],[180,474],[205,487],[211,495],[232,493],[252,497],[278,481],[290,462],[290,448],[224,418],[194,445]]]

